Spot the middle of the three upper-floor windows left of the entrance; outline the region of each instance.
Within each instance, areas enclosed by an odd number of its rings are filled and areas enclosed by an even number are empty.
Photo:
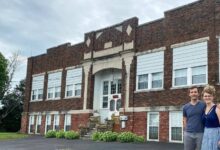
[[[62,72],[48,74],[47,99],[59,99],[61,96]]]

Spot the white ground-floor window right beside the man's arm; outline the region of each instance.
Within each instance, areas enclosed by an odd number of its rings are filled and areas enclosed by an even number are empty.
[[[183,142],[183,117],[181,111],[170,112],[169,116],[169,140],[171,142]]]

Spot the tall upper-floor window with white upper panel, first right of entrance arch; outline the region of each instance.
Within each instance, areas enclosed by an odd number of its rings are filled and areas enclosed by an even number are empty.
[[[164,52],[137,57],[136,90],[163,88]]]

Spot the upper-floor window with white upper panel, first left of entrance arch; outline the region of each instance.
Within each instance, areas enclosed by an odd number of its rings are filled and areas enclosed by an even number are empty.
[[[67,70],[66,75],[66,96],[81,96],[82,90],[82,68]]]

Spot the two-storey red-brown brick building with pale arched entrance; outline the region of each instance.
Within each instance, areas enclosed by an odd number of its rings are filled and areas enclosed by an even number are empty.
[[[182,142],[188,87],[219,85],[220,1],[199,0],[139,25],[136,17],[28,59],[21,131],[78,130],[115,116],[115,131]],[[125,124],[119,116],[127,116]],[[118,117],[118,121],[117,121]]]

